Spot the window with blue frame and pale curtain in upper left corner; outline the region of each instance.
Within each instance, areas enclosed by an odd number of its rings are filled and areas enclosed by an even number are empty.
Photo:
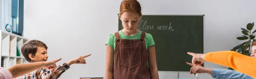
[[[24,0],[0,0],[0,26],[6,31],[6,25],[12,25],[12,33],[23,34]]]

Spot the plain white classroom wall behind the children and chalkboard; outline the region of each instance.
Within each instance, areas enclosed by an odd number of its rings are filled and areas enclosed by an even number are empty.
[[[122,0],[25,0],[24,37],[45,42],[49,60],[58,64],[80,55],[86,65],[71,65],[60,79],[104,77],[105,42],[118,30]],[[255,0],[139,0],[143,14],[204,14],[205,52],[230,50],[241,43],[240,28],[256,22]],[[106,30],[109,29],[109,30]],[[206,62],[208,68],[225,68]],[[177,79],[177,72],[159,71],[160,79]],[[189,72],[179,78],[195,79]],[[199,79],[212,79],[199,74]]]

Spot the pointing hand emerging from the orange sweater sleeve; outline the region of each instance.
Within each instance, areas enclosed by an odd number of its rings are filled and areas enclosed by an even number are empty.
[[[191,52],[188,52],[188,54],[193,56],[192,64],[194,66],[202,65],[204,62],[206,62],[206,60],[204,58],[205,54],[195,54],[195,53],[191,53]]]

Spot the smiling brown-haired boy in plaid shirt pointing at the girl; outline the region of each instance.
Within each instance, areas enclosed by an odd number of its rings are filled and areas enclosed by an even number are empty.
[[[27,63],[32,62],[42,62],[47,61],[47,45],[39,40],[30,40],[26,44],[22,45],[21,51]],[[58,79],[62,73],[67,71],[72,64],[86,64],[85,57],[90,56],[79,56],[78,58],[74,58],[69,60],[68,62],[64,62],[61,65],[58,65],[54,70],[47,70],[46,68],[40,68],[36,71],[32,71],[27,73],[26,75],[19,76],[15,79]]]

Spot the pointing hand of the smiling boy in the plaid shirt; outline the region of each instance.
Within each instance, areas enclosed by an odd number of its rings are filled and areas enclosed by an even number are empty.
[[[86,64],[85,59],[87,56],[90,56],[91,54],[85,55],[85,56],[79,56],[77,58],[71,59],[70,61],[67,62],[67,65],[72,65],[72,64]]]

